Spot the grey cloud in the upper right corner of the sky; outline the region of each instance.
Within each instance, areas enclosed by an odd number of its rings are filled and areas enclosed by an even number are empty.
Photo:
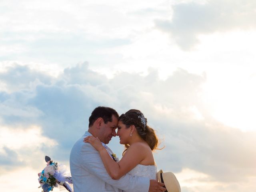
[[[182,2],[174,4],[172,8],[171,19],[158,19],[155,24],[158,29],[169,33],[184,50],[193,48],[201,34],[256,26],[253,19],[256,16],[256,3],[253,0]]]

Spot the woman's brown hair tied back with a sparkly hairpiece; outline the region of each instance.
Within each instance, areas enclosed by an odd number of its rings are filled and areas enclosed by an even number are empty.
[[[126,128],[134,125],[137,129],[139,136],[147,142],[151,150],[153,151],[154,149],[157,149],[158,138],[155,134],[155,131],[147,125],[147,119],[144,117],[143,113],[140,110],[128,110],[128,112],[122,114],[118,118],[118,120],[125,124]],[[125,147],[126,149],[124,150],[124,152],[128,149],[129,144],[125,144]]]

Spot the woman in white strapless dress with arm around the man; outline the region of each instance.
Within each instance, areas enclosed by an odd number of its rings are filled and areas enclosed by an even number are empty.
[[[119,162],[110,157],[98,138],[88,136],[84,142],[89,142],[98,150],[112,179],[118,180],[126,173],[156,179],[157,168],[152,151],[158,146],[158,138],[147,125],[147,119],[139,110],[131,109],[118,120],[116,135],[120,138],[120,144],[126,147]]]

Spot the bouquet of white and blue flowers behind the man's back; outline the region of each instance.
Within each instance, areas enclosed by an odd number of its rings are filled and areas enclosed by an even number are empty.
[[[58,165],[57,162],[51,160],[50,157],[45,156],[45,161],[47,162],[46,167],[42,172],[38,173],[38,182],[40,187],[42,187],[42,192],[52,191],[54,187],[63,186],[69,192],[73,192],[72,187],[69,184],[72,184],[72,178],[68,175],[64,165]]]

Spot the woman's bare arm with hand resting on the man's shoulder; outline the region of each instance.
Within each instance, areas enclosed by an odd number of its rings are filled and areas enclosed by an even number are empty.
[[[146,156],[144,144],[134,143],[128,148],[122,159],[117,163],[110,157],[98,138],[88,136],[84,141],[89,142],[96,150],[98,150],[106,171],[114,180],[118,180],[124,176],[138,165]]]

